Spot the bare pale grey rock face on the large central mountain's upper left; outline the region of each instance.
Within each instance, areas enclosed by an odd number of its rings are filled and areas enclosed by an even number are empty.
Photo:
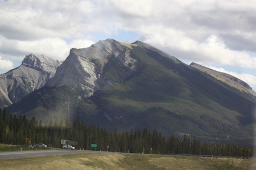
[[[109,58],[117,58],[127,69],[135,69],[128,66],[136,60],[130,57],[130,44],[121,43],[112,39],[99,41],[89,48],[70,50],[69,56],[58,67],[55,76],[49,79],[47,86],[60,87],[66,84],[76,86],[84,90],[83,96],[88,97],[94,91],[112,86],[114,82],[104,75],[104,66]]]

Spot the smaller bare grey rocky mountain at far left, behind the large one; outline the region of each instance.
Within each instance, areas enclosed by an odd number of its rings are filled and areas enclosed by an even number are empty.
[[[62,62],[46,56],[27,55],[22,65],[0,75],[0,107],[18,102],[43,87]]]

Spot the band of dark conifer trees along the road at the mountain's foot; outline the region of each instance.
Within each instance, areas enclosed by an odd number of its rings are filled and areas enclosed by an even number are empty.
[[[96,125],[86,125],[77,117],[72,124],[68,120],[60,122],[28,120],[26,116],[13,116],[6,108],[0,108],[0,143],[25,145],[26,138],[31,144],[44,143],[49,147],[61,148],[61,139],[77,141],[77,149],[142,153],[144,154],[193,154],[218,156],[253,156],[253,148],[234,146],[230,143],[203,143],[196,137],[183,139],[174,135],[166,138],[155,129],[131,129],[130,133],[107,131]],[[94,148],[93,148],[94,150]]]

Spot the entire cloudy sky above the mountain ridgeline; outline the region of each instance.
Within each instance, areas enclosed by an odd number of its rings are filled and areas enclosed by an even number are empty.
[[[256,91],[256,0],[0,0],[0,74],[100,40],[143,41]]]

